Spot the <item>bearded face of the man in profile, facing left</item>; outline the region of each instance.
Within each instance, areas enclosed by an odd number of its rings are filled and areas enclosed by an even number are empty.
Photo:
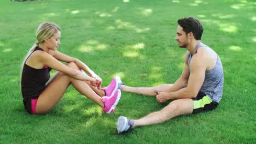
[[[179,47],[187,48],[189,44],[188,35],[183,31],[183,28],[181,26],[178,26],[177,28],[175,40],[178,41]]]

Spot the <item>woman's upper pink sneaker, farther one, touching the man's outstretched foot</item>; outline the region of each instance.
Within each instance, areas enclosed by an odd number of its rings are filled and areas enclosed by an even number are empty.
[[[111,97],[115,93],[115,91],[117,91],[118,83],[120,82],[121,82],[120,77],[116,76],[107,87],[102,88],[103,90],[105,90],[107,97]]]

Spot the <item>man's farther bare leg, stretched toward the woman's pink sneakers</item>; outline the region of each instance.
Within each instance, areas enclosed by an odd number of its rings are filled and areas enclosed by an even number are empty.
[[[137,93],[149,96],[156,96],[158,92],[167,92],[168,89],[172,87],[173,84],[162,84],[156,87],[129,87],[126,85],[121,85],[123,92]]]

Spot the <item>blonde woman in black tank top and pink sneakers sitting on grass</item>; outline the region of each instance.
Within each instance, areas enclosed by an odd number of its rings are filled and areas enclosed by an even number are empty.
[[[41,23],[36,36],[36,44],[21,65],[21,92],[28,113],[43,114],[53,109],[70,84],[100,105],[104,112],[114,111],[121,97],[120,77],[115,77],[109,86],[101,89],[101,78],[86,64],[57,51],[61,44],[61,29],[53,22]],[[59,73],[49,80],[51,69]]]

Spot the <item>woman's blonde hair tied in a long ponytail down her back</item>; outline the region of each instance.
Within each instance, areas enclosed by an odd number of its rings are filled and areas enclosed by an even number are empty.
[[[56,34],[58,31],[61,31],[60,27],[53,22],[43,22],[38,26],[37,33],[36,33],[37,41],[28,51],[26,57],[24,58],[24,61],[21,64],[20,85],[21,85],[22,71],[27,58],[31,55],[31,53],[34,51],[34,49],[36,49],[37,46],[40,46],[44,43],[45,39],[53,37],[53,35]]]

